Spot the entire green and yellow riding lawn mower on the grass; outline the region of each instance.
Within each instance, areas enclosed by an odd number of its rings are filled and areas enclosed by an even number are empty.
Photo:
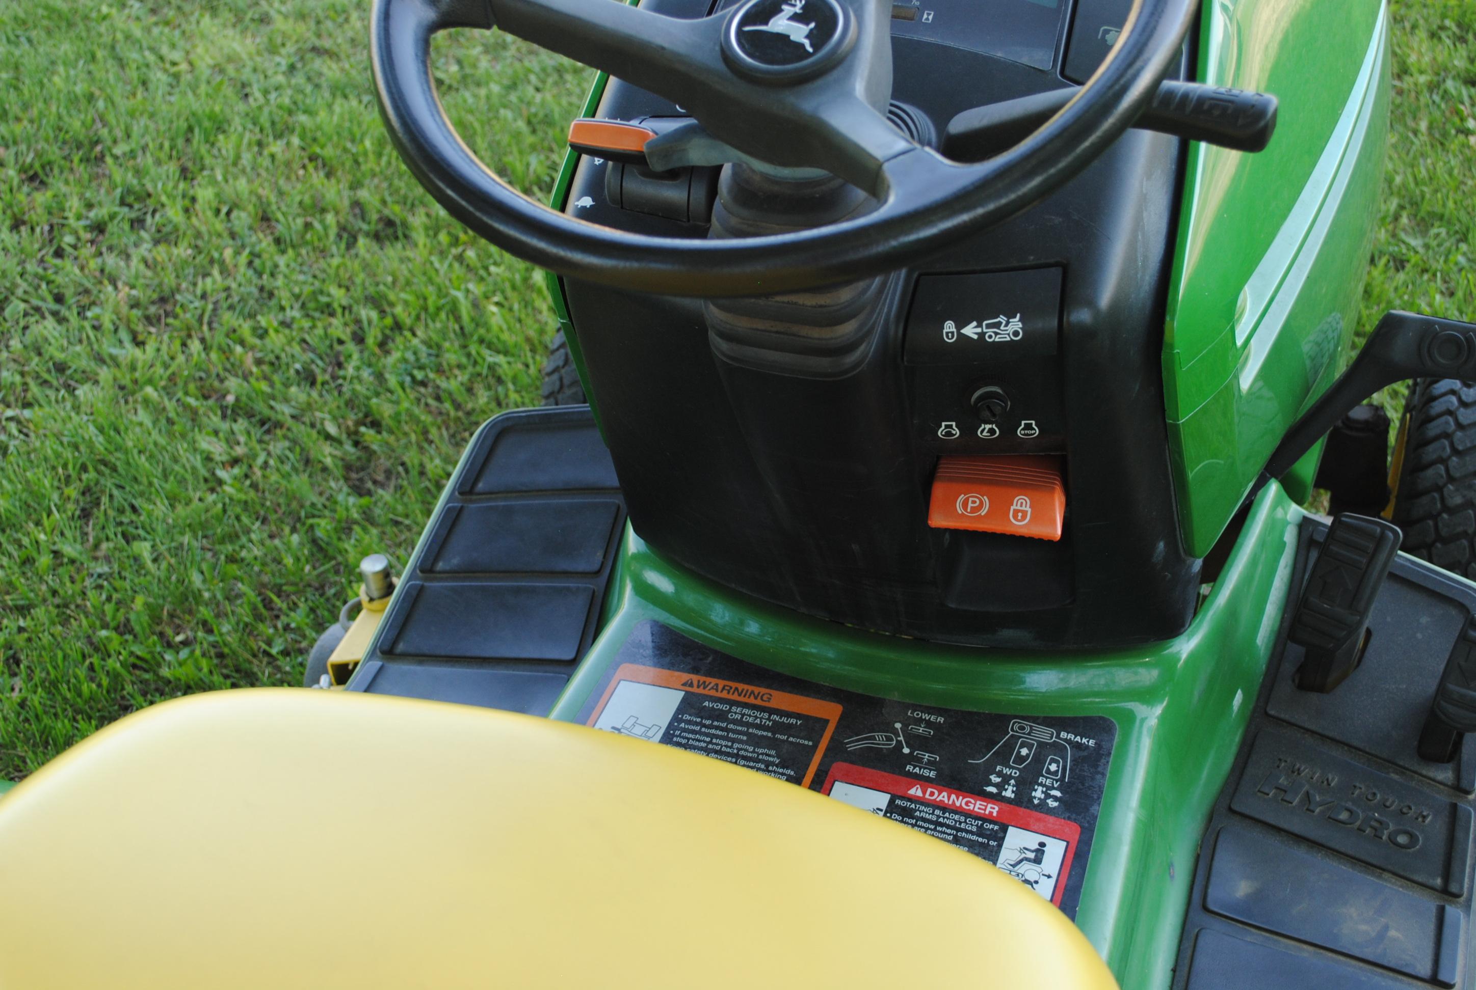
[[[412,173],[551,273],[549,404],[314,690],[0,800],[0,986],[1476,986],[1476,325],[1343,360],[1386,3],[370,25]],[[450,28],[601,72],[552,207]]]

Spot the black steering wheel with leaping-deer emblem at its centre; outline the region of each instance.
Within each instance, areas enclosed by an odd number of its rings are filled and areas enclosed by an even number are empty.
[[[621,0],[375,0],[370,41],[396,148],[475,233],[565,276],[735,297],[899,269],[1026,210],[1134,124],[1196,9],[1194,0],[1135,0],[1111,55],[1064,109],[1008,152],[968,165],[912,143],[886,118],[892,0],[745,0],[697,21]],[[824,227],[707,240],[626,233],[543,207],[477,159],[435,94],[431,35],[493,27],[679,103],[750,161],[827,171],[878,207]]]

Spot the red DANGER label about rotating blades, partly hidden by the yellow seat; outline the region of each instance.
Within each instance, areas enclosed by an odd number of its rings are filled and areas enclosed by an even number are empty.
[[[1057,906],[1082,837],[1066,819],[850,763],[821,792],[968,850]]]

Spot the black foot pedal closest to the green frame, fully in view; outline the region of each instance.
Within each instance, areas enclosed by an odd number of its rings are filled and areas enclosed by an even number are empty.
[[[1287,637],[1306,649],[1296,674],[1302,690],[1327,693],[1362,657],[1368,615],[1399,552],[1399,527],[1361,515],[1333,519]]]

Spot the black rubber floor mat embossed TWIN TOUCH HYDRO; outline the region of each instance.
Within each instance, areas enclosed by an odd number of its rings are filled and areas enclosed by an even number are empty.
[[[1476,592],[1399,558],[1362,662],[1296,686],[1287,627],[1327,527],[1302,524],[1292,605],[1200,845],[1173,986],[1469,987],[1476,738],[1449,764],[1415,742]]]

